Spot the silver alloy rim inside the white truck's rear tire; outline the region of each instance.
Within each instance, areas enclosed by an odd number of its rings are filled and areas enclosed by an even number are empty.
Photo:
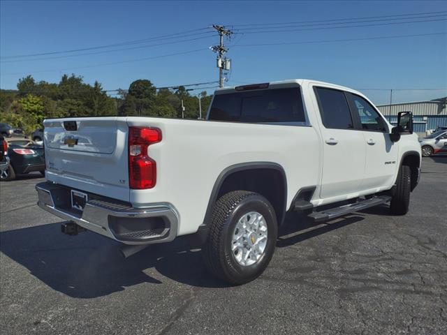
[[[267,245],[268,228],[265,218],[257,211],[244,214],[237,221],[231,241],[231,251],[240,265],[248,267],[261,259]]]

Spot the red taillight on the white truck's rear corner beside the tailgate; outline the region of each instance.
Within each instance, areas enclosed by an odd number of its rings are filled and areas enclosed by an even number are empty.
[[[129,127],[129,186],[152,188],[156,183],[156,163],[149,157],[149,145],[161,141],[159,128]]]

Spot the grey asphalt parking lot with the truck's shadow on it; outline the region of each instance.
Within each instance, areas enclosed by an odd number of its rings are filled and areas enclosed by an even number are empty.
[[[423,159],[406,216],[290,216],[265,274],[228,287],[182,240],[124,260],[0,184],[1,334],[447,334],[447,157]]]

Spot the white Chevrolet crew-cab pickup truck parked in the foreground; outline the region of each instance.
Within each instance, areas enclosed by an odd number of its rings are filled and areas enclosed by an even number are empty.
[[[392,128],[360,92],[314,80],[217,89],[206,121],[47,119],[38,204],[124,255],[194,234],[215,275],[247,283],[287,211],[322,222],[390,202],[406,214],[420,176],[412,120]]]

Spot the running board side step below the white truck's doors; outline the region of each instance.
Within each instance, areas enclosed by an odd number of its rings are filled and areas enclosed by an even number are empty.
[[[338,218],[339,216],[344,216],[346,214],[353,213],[354,211],[361,211],[369,207],[374,207],[379,204],[384,204],[391,200],[388,195],[381,195],[379,197],[370,198],[367,200],[361,200],[354,204],[345,204],[344,206],[335,207],[331,209],[325,209],[323,211],[314,211],[309,214],[308,217],[312,218],[314,222],[323,222],[332,220],[332,218]]]

